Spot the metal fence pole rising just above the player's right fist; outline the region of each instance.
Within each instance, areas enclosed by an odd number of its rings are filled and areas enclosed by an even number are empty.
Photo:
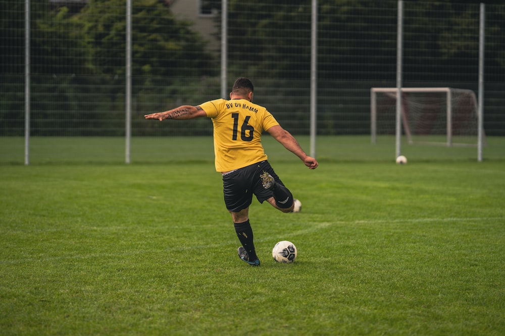
[[[317,0],[312,0],[311,29],[311,156],[316,157],[317,131]]]

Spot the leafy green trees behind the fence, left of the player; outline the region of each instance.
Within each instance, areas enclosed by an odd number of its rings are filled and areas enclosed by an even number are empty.
[[[80,128],[80,135],[122,135],[126,83],[124,0],[91,0],[77,12],[67,6],[49,6],[45,0],[32,3],[31,134],[75,135],[75,129]],[[0,118],[11,126],[15,126],[11,120],[19,121],[18,127],[10,130],[11,135],[21,135],[23,129],[23,10],[18,4],[0,14],[5,19],[2,42],[12,46],[12,51],[3,52],[0,59],[6,73],[6,81],[0,85],[8,94],[0,104],[6,112]],[[163,2],[135,2],[132,94],[137,106],[148,102],[146,110],[163,110],[167,105],[160,97],[164,97],[167,87],[172,87],[173,95],[180,98],[187,95],[184,90],[189,87],[170,79],[216,75],[215,57],[191,25],[177,19]],[[8,135],[6,131],[3,135]]]

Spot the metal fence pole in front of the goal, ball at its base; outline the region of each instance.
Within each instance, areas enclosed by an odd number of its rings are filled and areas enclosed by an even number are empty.
[[[398,0],[398,23],[396,36],[396,158],[401,155],[401,75],[403,48],[403,1]]]

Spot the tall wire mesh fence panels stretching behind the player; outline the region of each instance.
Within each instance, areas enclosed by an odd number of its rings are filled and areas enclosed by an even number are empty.
[[[175,12],[176,5],[181,6],[177,1],[133,2],[133,142],[143,137],[212,136],[207,119],[160,123],[143,118],[220,97],[221,1],[196,2],[202,12],[192,19]],[[104,152],[92,138],[125,137],[126,1],[29,4],[33,157],[72,161],[72,153],[90,146],[96,157],[121,158],[121,141],[114,140],[111,152]],[[249,77],[256,103],[294,135],[309,135],[310,1],[227,4],[227,88],[236,77]],[[22,162],[26,123],[26,8],[18,0],[4,0],[0,6],[0,162],[15,163]],[[407,1],[403,7],[403,86],[477,92],[479,4]],[[370,88],[396,85],[397,1],[327,0],[319,1],[317,9],[317,135],[368,136]],[[210,20],[214,33],[196,29],[202,20]],[[505,5],[486,5],[488,137],[505,135],[504,59]],[[72,149],[70,139],[76,137],[82,138]],[[69,157],[63,159],[64,144]],[[145,155],[145,148],[137,150]],[[160,153],[150,155],[156,160]]]

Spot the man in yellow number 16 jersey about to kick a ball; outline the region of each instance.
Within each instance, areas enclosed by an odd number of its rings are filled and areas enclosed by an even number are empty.
[[[289,213],[293,210],[293,195],[267,161],[261,144],[264,130],[294,153],[310,169],[319,165],[308,156],[291,134],[284,130],[265,107],[252,103],[254,86],[247,78],[233,84],[230,100],[216,99],[198,106],[183,105],[172,110],[144,115],[146,119],[212,118],[216,170],[223,176],[226,209],[230,212],[242,246],[238,256],[250,265],[260,265],[256,255],[249,206],[252,194],[263,203]]]

